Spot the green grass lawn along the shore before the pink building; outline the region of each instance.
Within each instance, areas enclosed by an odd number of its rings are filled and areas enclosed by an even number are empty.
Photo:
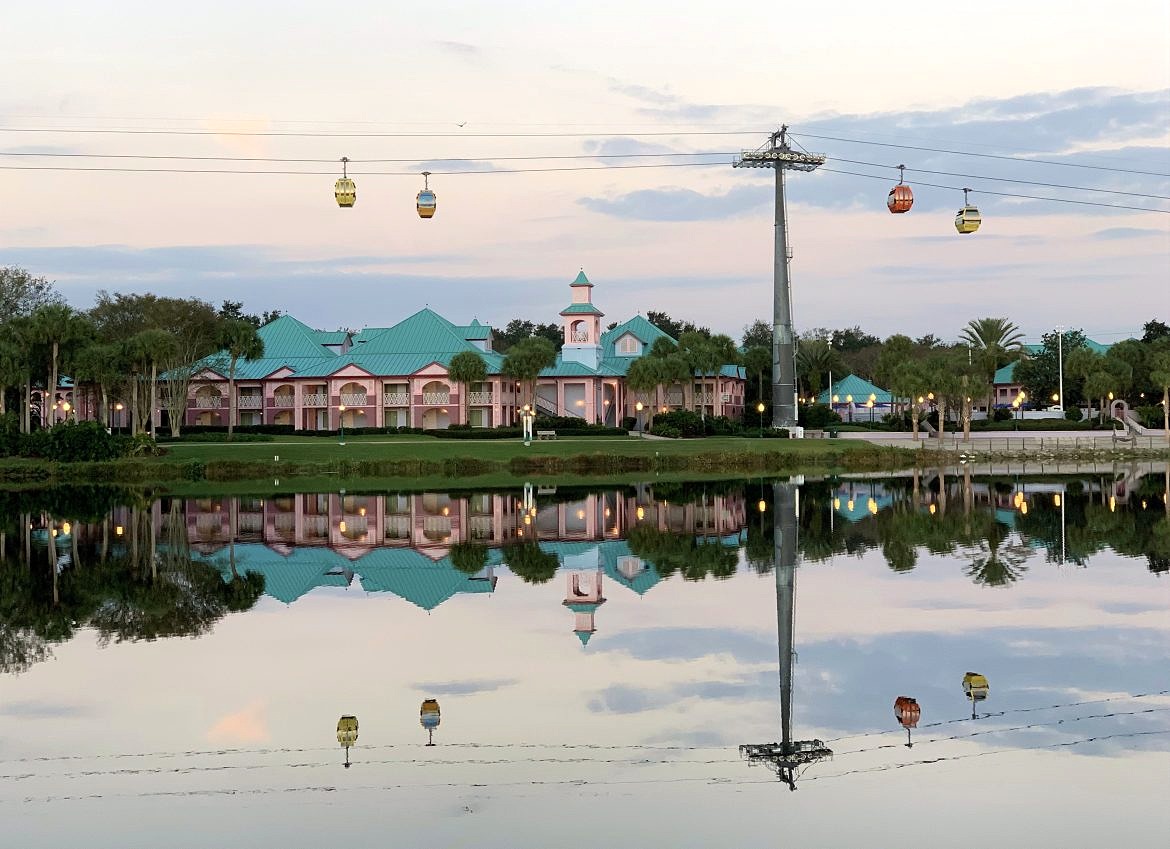
[[[280,457],[278,461],[274,457]],[[768,472],[904,468],[913,453],[848,441],[739,437],[642,440],[572,437],[524,446],[518,440],[435,440],[427,436],[333,439],[289,436],[255,443],[170,443],[161,457],[113,463],[0,463],[0,482],[164,485],[176,491],[233,482],[285,489],[333,489],[339,481],[372,489],[509,485],[517,481],[591,482],[757,476]],[[281,483],[271,483],[280,481]]]

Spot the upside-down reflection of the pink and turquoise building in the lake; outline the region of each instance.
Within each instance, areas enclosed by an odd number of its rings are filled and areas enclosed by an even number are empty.
[[[181,520],[193,557],[264,575],[292,603],[317,587],[394,593],[426,610],[461,593],[491,593],[509,552],[535,544],[567,572],[565,607],[585,646],[606,601],[603,577],[641,595],[661,574],[627,541],[634,529],[738,548],[742,490],[672,501],[647,484],[601,492],[290,493],[157,503],[160,525]],[[476,550],[469,571],[461,552]],[[551,562],[551,560],[550,560]]]

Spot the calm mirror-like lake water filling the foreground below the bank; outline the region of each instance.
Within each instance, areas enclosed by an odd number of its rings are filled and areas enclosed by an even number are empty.
[[[0,844],[1163,847],[1149,471],[0,493]]]

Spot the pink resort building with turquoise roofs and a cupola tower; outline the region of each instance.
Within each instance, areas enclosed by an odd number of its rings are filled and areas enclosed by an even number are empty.
[[[604,313],[593,304],[593,284],[584,271],[569,289],[570,303],[560,311],[563,347],[536,385],[538,415],[620,427],[635,416],[638,402],[662,412],[743,415],[745,373],[732,364],[683,385],[638,395],[628,391],[629,364],[660,337],[670,337],[641,316],[603,331]],[[479,320],[454,324],[424,309],[390,327],[324,332],[282,316],[259,333],[264,356],[235,367],[236,424],[491,428],[516,423],[528,402],[503,374],[504,354],[493,348],[491,327]],[[450,380],[448,365],[463,351],[483,359],[482,382],[464,387]],[[228,363],[226,352],[213,354],[191,381],[187,424],[228,423]]]

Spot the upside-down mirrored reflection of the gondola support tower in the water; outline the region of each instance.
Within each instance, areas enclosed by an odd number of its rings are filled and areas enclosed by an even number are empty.
[[[792,740],[792,667],[796,663],[793,617],[796,613],[799,497],[800,490],[794,483],[772,484],[772,503],[776,509],[773,553],[776,558],[776,642],[780,668],[780,741],[739,746],[739,753],[748,759],[749,764],[766,764],[791,791],[797,788],[797,771],[800,767],[833,754],[832,750],[821,740]]]

